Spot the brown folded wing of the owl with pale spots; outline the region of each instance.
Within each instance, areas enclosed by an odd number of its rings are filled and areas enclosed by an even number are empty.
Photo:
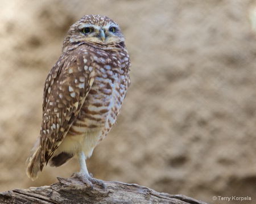
[[[79,114],[94,80],[89,54],[63,54],[44,84],[41,162],[48,163]],[[41,164],[42,165],[42,164]],[[41,169],[42,171],[42,169]]]

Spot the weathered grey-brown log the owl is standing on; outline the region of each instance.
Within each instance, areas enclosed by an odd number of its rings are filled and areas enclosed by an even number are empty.
[[[94,190],[75,178],[57,178],[51,186],[14,189],[0,193],[0,203],[172,203],[205,204],[183,195],[158,193],[137,184],[105,181],[106,189],[94,184]]]

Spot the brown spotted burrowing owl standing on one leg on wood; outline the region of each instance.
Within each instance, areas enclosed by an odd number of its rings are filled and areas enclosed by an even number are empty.
[[[105,138],[130,84],[130,58],[117,23],[106,16],[86,15],[69,29],[63,54],[44,84],[43,121],[28,156],[27,176],[38,178],[44,165],[59,167],[79,159],[74,174],[93,188],[85,159]]]

